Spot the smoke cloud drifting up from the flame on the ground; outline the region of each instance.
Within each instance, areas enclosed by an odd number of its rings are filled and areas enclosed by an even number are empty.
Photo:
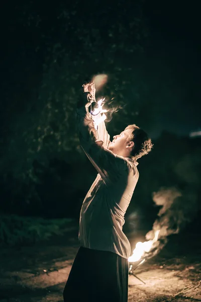
[[[198,196],[189,187],[183,191],[175,187],[161,188],[153,193],[153,201],[161,208],[152,231],[146,234],[146,239],[152,240],[157,230],[160,230],[160,233],[159,240],[154,244],[151,256],[148,255],[148,258],[156,255],[165,246],[168,236],[178,234],[198,210]]]

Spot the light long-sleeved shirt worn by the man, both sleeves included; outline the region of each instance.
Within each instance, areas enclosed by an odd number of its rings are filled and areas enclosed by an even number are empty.
[[[139,177],[137,162],[107,149],[105,122],[96,131],[85,109],[78,110],[78,129],[81,146],[98,172],[80,211],[80,245],[128,258],[131,247],[122,227]]]

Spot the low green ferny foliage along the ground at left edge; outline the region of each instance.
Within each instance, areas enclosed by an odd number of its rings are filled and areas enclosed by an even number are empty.
[[[43,219],[17,215],[0,215],[0,246],[22,246],[48,240],[68,230],[72,219]]]

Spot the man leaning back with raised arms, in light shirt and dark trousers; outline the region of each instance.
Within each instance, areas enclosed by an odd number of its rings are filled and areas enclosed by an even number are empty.
[[[80,144],[98,174],[82,204],[80,248],[63,296],[64,302],[127,302],[131,248],[122,226],[139,177],[136,160],[150,152],[152,143],[136,125],[112,141],[105,122],[95,130],[100,113],[89,113],[94,94],[93,83],[84,86],[77,113]]]

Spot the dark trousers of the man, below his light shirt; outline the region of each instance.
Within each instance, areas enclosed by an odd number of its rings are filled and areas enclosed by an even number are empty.
[[[127,302],[128,259],[79,248],[66,282],[64,302]]]

